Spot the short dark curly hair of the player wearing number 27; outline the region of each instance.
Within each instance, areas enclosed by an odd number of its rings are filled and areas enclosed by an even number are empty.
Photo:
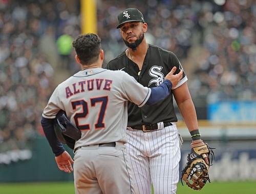
[[[89,66],[99,58],[100,37],[97,34],[81,34],[73,41],[73,47],[81,64]]]

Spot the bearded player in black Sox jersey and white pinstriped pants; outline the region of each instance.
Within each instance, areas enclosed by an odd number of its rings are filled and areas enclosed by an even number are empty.
[[[127,8],[117,18],[117,28],[127,48],[109,61],[106,69],[125,71],[150,88],[160,85],[174,67],[176,73],[183,70],[175,53],[147,43],[144,36],[147,23],[141,11]],[[176,193],[181,154],[174,99],[191,135],[191,146],[204,145],[187,80],[183,72],[170,95],[152,106],[138,107],[133,102],[127,103],[128,142],[125,145],[137,193],[151,193],[152,184],[155,194]]]

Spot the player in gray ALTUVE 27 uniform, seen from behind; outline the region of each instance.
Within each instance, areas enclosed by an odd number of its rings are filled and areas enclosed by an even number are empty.
[[[143,87],[123,71],[102,69],[104,59],[96,34],[74,40],[76,60],[82,70],[60,83],[42,114],[41,124],[60,170],[73,171],[75,191],[89,193],[135,193],[125,146],[127,101],[139,107],[163,100],[180,81],[176,68],[155,88]],[[75,142],[74,161],[53,130],[57,113],[66,112],[81,131]]]

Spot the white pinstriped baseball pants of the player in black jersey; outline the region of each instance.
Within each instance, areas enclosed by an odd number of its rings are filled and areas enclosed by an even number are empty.
[[[126,153],[135,193],[174,194],[179,181],[180,145],[175,123],[152,132],[127,128]]]

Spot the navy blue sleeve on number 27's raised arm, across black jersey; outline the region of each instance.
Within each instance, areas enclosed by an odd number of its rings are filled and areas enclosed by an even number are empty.
[[[160,85],[158,85],[158,87],[151,88],[151,95],[150,98],[148,98],[146,104],[152,105],[160,102],[170,94],[172,87],[172,82],[169,80],[164,80]]]

